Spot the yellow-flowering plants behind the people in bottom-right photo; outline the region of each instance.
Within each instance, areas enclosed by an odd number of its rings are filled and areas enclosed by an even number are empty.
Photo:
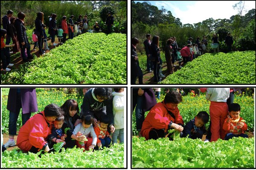
[[[249,131],[253,131],[254,128],[254,96],[235,95],[234,103],[238,103],[241,106],[240,116],[246,121]],[[161,96],[161,102],[164,99],[164,95]],[[183,96],[182,102],[178,105],[180,115],[183,118],[184,124],[193,119],[199,111],[206,111],[209,114],[210,102],[205,99],[205,94],[200,96]],[[134,111],[135,112],[135,111]],[[148,112],[145,113],[147,115]],[[135,113],[132,116],[132,134],[137,135],[136,130],[136,118]],[[208,129],[209,122],[206,124]]]

